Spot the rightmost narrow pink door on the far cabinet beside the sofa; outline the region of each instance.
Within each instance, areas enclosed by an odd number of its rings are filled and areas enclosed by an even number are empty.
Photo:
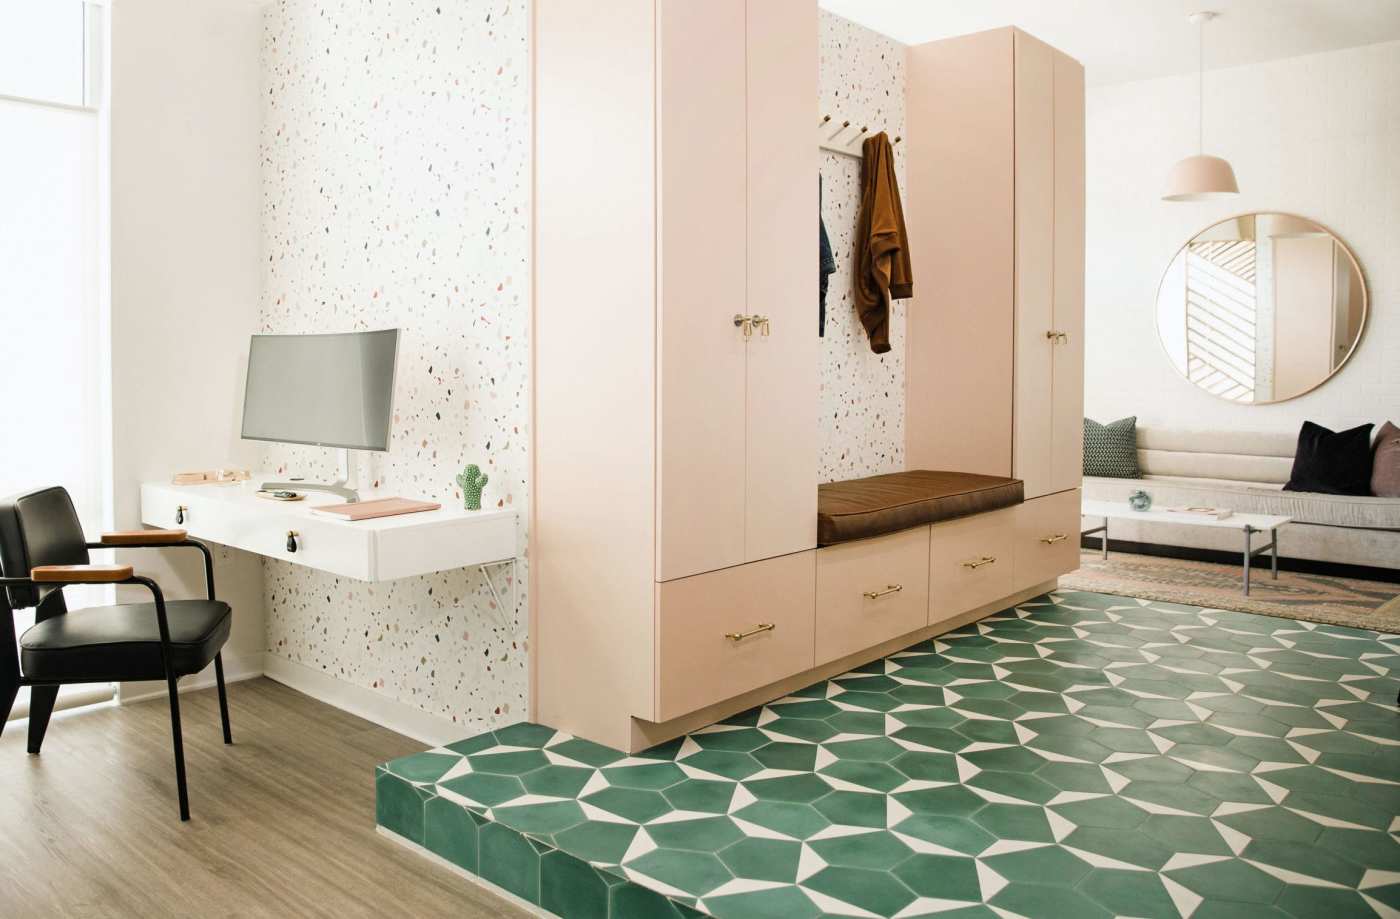
[[[1054,55],[1054,347],[1050,490],[1084,481],[1084,66]],[[1028,493],[1029,495],[1029,493]]]

